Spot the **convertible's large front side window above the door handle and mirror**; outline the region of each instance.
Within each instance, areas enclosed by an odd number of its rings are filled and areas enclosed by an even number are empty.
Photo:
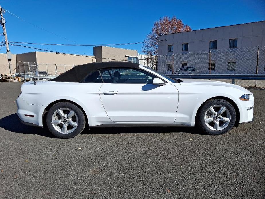
[[[101,69],[100,72],[104,83],[151,84],[156,78],[146,71],[129,68]]]

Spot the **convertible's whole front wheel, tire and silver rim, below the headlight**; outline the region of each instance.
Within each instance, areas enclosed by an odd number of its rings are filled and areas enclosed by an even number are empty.
[[[203,104],[196,124],[204,132],[221,135],[231,130],[236,121],[235,108],[224,99],[211,99]]]

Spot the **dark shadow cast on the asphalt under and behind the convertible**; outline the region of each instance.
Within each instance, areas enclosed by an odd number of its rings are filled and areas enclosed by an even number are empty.
[[[0,119],[0,127],[5,130],[22,133],[40,135],[56,138],[46,127],[38,128],[27,126],[19,121],[17,114],[11,114]],[[206,135],[201,130],[194,127],[97,127],[85,128],[81,134],[115,134],[115,133],[189,133]]]

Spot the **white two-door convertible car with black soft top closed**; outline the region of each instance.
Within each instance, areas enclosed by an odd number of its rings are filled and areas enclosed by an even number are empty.
[[[17,114],[59,138],[89,127],[197,126],[220,135],[253,119],[253,94],[201,79],[171,79],[126,62],[76,66],[51,80],[21,86]],[[45,125],[46,124],[46,125]]]

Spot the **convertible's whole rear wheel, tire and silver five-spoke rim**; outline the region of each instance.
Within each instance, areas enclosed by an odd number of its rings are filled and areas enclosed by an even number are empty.
[[[80,134],[86,124],[83,112],[69,102],[58,102],[48,110],[46,124],[56,137],[73,138]]]

